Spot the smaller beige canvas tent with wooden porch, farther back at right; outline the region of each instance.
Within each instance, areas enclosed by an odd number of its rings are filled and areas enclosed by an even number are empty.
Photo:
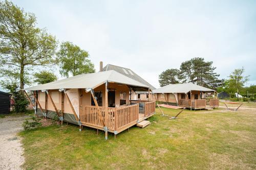
[[[215,90],[193,83],[169,84],[153,90],[153,100],[190,109],[207,109],[219,107]]]

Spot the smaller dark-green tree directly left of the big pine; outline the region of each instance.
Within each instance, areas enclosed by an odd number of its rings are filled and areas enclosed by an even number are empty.
[[[161,87],[180,83],[180,70],[174,68],[166,69],[159,75],[158,81]]]

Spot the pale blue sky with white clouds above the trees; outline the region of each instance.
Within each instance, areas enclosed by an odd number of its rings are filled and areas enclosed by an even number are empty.
[[[159,87],[163,70],[203,57],[221,78],[244,66],[256,84],[256,1],[13,2],[88,51],[97,70],[99,61],[131,68]]]

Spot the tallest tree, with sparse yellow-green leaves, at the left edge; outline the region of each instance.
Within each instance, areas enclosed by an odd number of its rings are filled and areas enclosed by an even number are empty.
[[[19,82],[23,89],[29,84],[35,66],[55,62],[55,37],[35,27],[36,17],[12,2],[0,2],[0,74]]]

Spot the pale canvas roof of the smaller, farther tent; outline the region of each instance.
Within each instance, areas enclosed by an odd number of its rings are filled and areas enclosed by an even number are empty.
[[[187,93],[189,91],[215,91],[193,83],[169,84],[153,90],[154,93]]]

